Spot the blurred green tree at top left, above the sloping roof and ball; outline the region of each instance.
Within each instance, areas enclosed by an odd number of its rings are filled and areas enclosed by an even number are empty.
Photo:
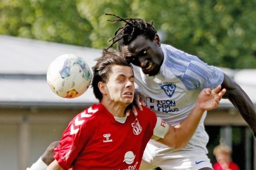
[[[0,1],[0,34],[90,46],[91,30],[74,0]]]

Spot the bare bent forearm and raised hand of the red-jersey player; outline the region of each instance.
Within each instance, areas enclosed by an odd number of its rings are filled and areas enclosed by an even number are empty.
[[[202,90],[188,117],[175,127],[170,126],[164,139],[159,139],[158,142],[176,149],[185,147],[194,135],[204,111],[216,108],[225,92],[225,89],[221,90],[221,86],[214,90]]]

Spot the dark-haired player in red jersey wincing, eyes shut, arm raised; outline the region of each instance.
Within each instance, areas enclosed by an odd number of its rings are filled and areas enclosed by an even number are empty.
[[[181,148],[194,134],[205,110],[218,106],[226,90],[204,89],[188,117],[176,127],[147,107],[126,115],[134,99],[134,74],[121,54],[104,51],[93,67],[94,104],[70,121],[47,170],[137,170],[150,139]]]

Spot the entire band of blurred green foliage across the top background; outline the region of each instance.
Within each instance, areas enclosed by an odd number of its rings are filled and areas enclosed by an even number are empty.
[[[210,65],[256,68],[255,9],[255,0],[2,0],[0,33],[103,48],[122,26],[112,13],[153,21],[162,43]]]

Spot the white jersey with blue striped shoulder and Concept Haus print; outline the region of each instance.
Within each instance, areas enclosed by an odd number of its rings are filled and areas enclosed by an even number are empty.
[[[147,107],[169,125],[175,126],[184,120],[193,109],[198,94],[204,88],[214,89],[222,84],[223,72],[208,66],[198,57],[161,44],[164,61],[160,72],[148,76],[134,66],[136,89],[146,97]],[[197,148],[207,153],[208,135],[204,131],[204,113],[196,133],[185,148]],[[192,146],[191,146],[192,145]]]

